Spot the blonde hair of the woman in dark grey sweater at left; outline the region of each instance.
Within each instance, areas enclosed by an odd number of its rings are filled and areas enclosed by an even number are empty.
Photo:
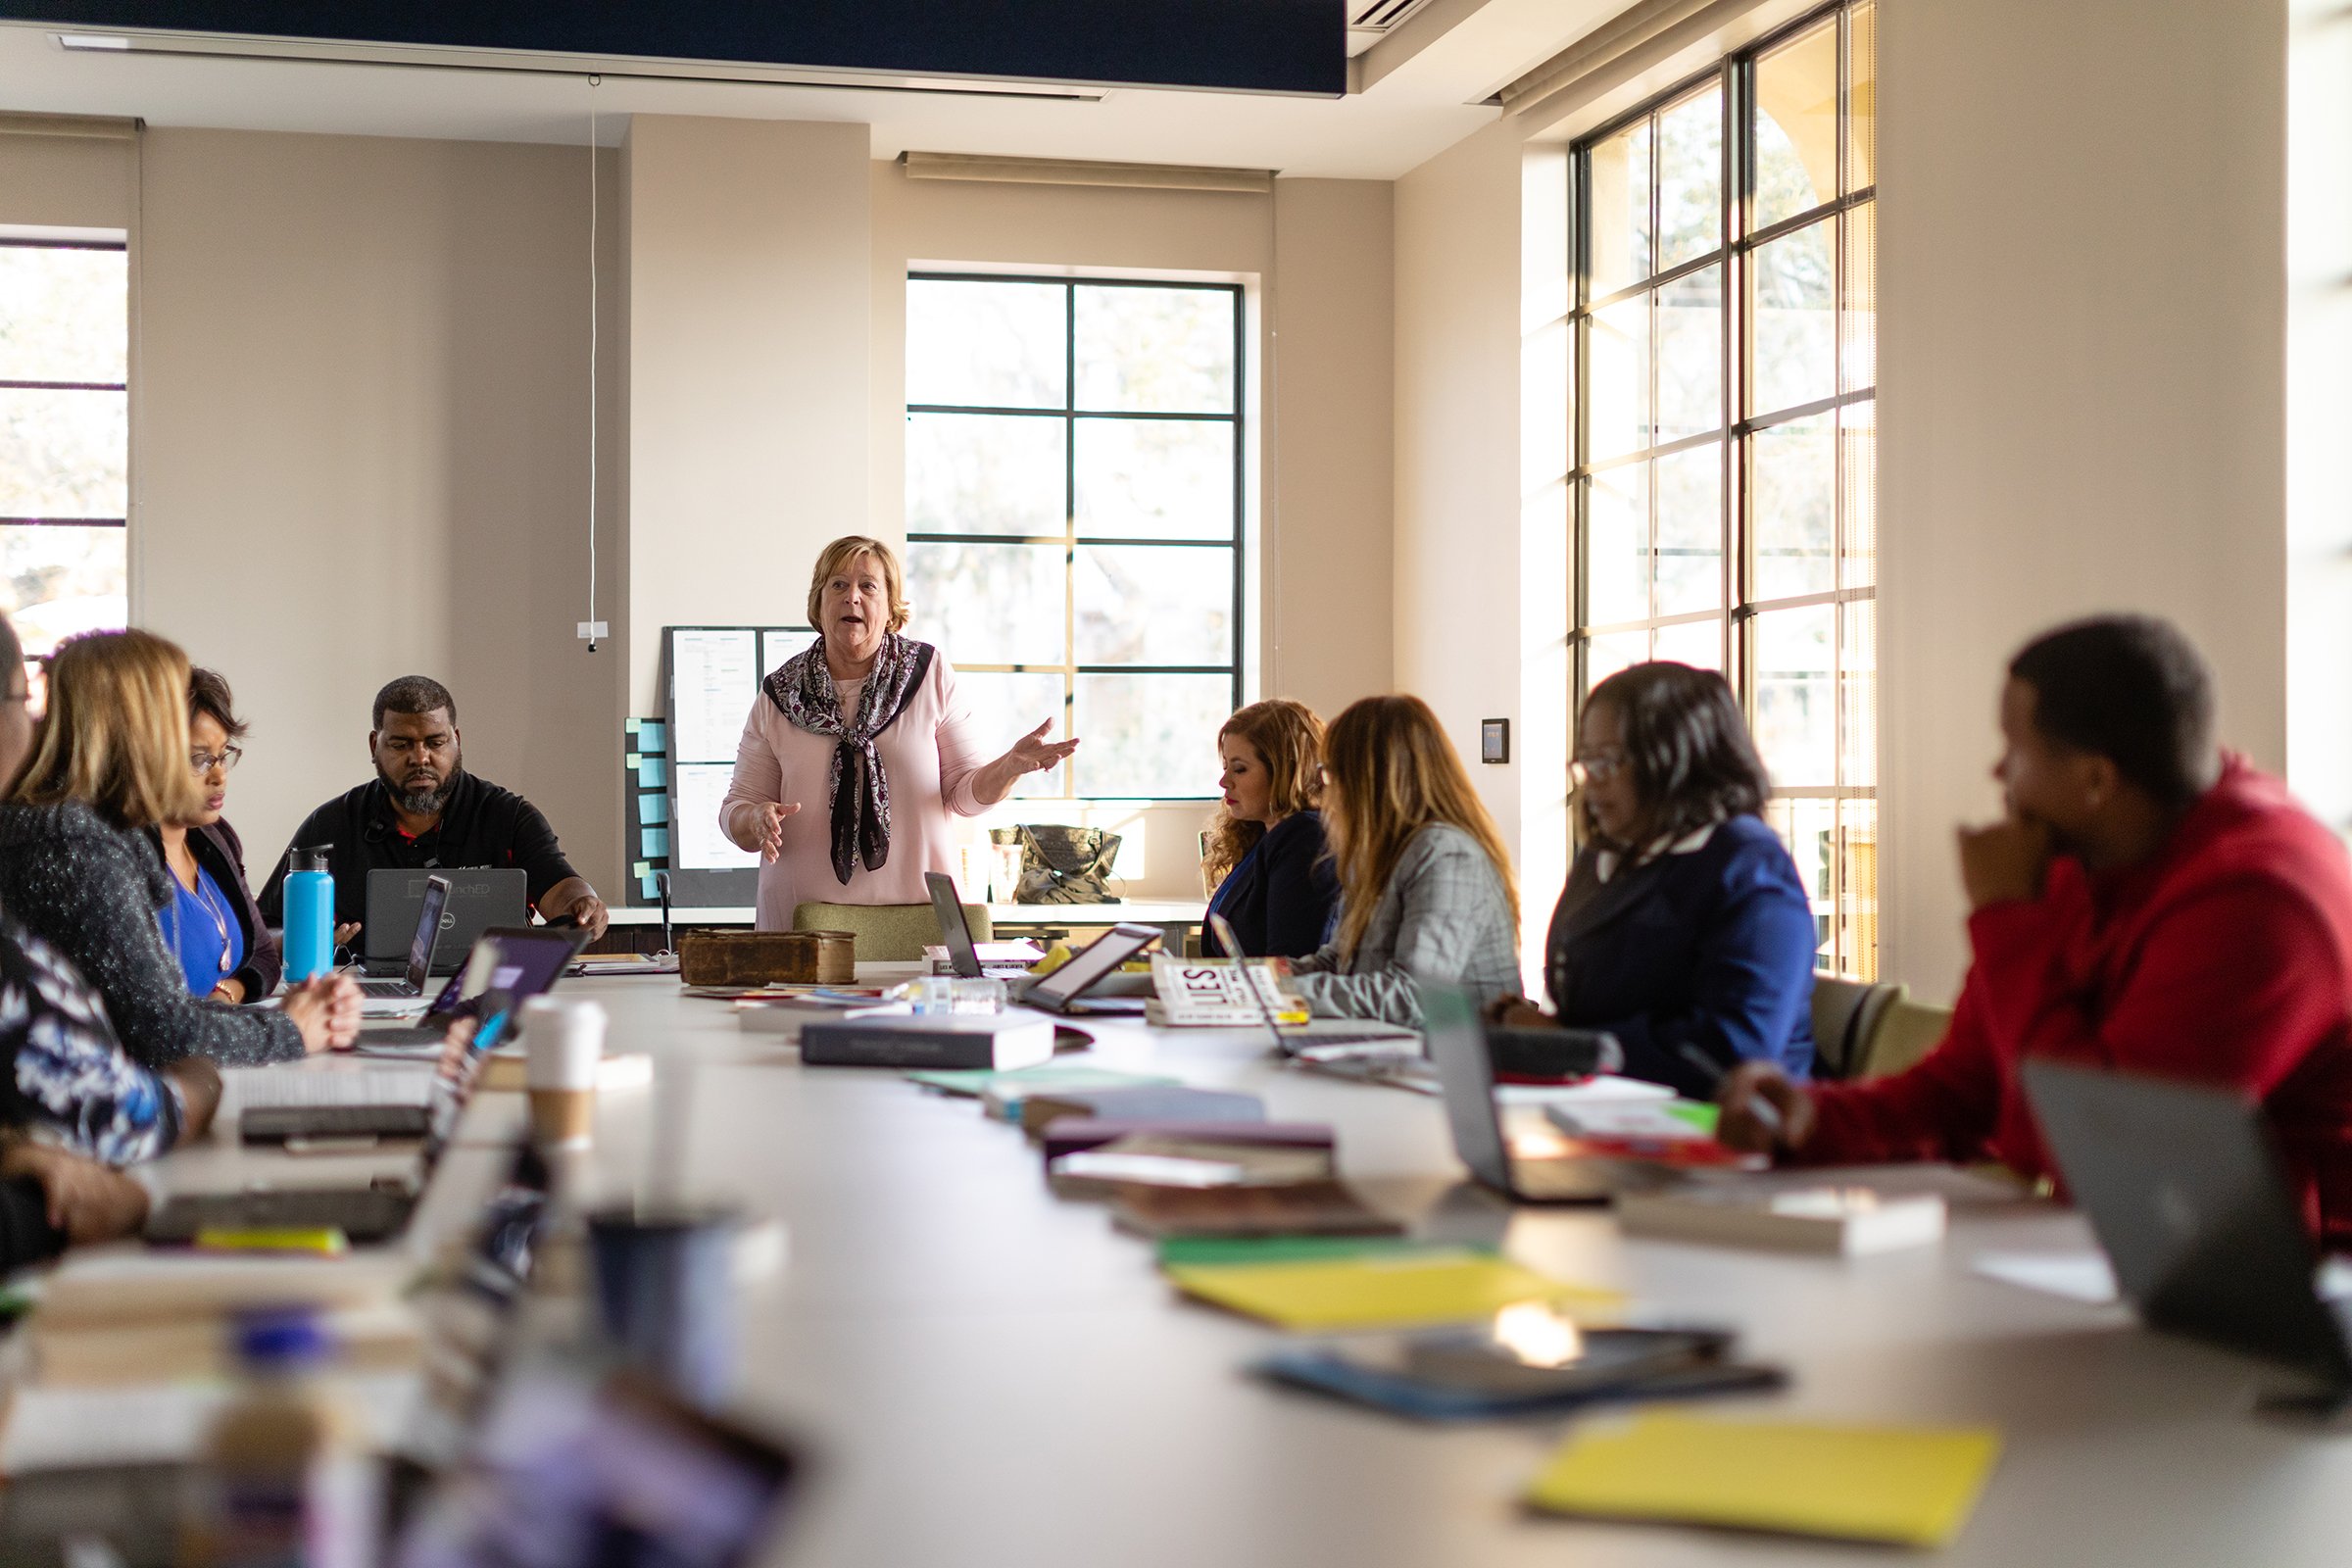
[[[205,811],[188,771],[188,656],[153,632],[87,632],[49,656],[49,710],[9,799],[78,799],[118,827]]]

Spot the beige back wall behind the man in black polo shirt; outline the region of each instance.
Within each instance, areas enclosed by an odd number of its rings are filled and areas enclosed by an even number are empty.
[[[219,665],[254,724],[230,820],[256,879],[310,806],[367,778],[376,686],[426,672],[459,696],[468,764],[614,886],[619,665],[572,639],[581,158],[143,139],[134,614]],[[101,143],[0,136],[0,223],[122,223],[122,172]]]

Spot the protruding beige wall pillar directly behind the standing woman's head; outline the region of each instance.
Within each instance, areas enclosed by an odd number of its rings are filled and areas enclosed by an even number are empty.
[[[628,183],[628,642],[661,712],[663,625],[802,618],[866,522],[863,125],[637,115]]]

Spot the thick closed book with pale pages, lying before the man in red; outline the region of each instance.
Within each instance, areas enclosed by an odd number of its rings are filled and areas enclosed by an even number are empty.
[[[1945,1206],[1933,1194],[1870,1187],[1703,1182],[1618,1194],[1616,1215],[1628,1237],[1863,1258],[1940,1241]]]

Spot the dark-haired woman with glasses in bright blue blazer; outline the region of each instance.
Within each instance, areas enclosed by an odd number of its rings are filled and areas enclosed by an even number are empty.
[[[1498,1013],[1609,1030],[1630,1077],[1696,1100],[1740,1063],[1809,1077],[1813,910],[1724,677],[1618,670],[1585,698],[1573,773],[1585,844],[1545,943],[1552,1011]]]

